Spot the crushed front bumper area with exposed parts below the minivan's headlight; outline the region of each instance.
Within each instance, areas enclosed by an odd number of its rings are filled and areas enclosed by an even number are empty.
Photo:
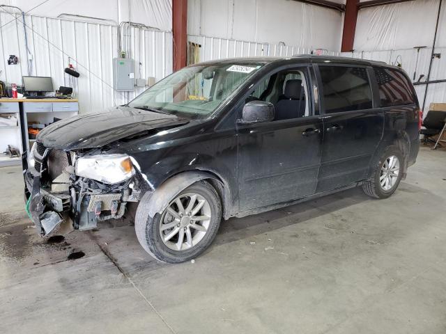
[[[139,201],[139,191],[132,179],[112,186],[101,184],[93,189],[95,181],[75,175],[70,183],[48,182],[42,173],[28,167],[26,153],[22,155],[22,166],[26,212],[43,237],[56,232],[92,230],[98,221],[122,218],[128,201]],[[140,173],[135,180],[141,182]]]

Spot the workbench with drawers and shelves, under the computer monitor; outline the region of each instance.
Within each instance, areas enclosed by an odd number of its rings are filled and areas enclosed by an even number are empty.
[[[0,114],[13,114],[18,124],[11,127],[0,127],[0,152],[8,145],[29,152],[35,139],[28,135],[28,124],[53,122],[54,118],[67,118],[79,113],[77,100],[69,99],[0,99]],[[9,158],[0,155],[0,166],[20,165],[20,158]]]

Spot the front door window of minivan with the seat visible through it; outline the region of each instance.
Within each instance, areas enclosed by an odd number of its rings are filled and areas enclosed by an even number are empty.
[[[245,102],[271,102],[275,106],[274,120],[309,116],[305,73],[302,70],[285,70],[272,74],[254,87]]]

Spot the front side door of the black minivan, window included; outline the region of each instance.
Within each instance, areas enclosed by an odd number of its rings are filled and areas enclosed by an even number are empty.
[[[313,115],[307,67],[272,74],[249,100],[275,105],[271,122],[238,125],[240,212],[288,202],[316,191],[323,124]],[[263,92],[259,91],[259,87]]]

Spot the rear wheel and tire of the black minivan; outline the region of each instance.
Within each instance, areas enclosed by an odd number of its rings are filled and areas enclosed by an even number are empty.
[[[392,196],[403,177],[404,157],[395,145],[387,147],[374,166],[373,175],[364,181],[362,190],[374,198]]]

